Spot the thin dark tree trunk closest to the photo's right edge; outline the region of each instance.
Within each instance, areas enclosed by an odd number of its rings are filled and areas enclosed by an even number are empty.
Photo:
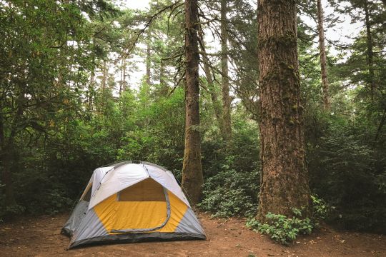
[[[370,25],[370,13],[368,8],[368,2],[365,1],[365,26],[366,26],[366,39],[367,39],[367,66],[369,70],[369,78],[367,80],[370,84],[371,99],[374,99],[375,81],[374,81],[374,51],[372,50],[372,34]]]

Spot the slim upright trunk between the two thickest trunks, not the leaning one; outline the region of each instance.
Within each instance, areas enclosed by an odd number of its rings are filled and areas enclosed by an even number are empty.
[[[232,136],[231,99],[229,96],[228,77],[228,31],[227,31],[227,0],[221,0],[221,72],[222,72],[222,119],[224,136],[229,141]]]

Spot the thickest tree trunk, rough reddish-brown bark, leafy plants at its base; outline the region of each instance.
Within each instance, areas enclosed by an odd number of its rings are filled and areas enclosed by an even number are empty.
[[[259,88],[262,165],[259,211],[292,215],[310,204],[297,60],[295,0],[260,0]],[[306,213],[307,214],[307,213]]]

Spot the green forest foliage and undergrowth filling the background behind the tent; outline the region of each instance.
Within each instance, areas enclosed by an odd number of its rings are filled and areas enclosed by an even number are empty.
[[[355,7],[354,2],[347,1]],[[118,8],[114,1],[85,3],[0,2],[0,173],[9,171],[12,185],[6,188],[7,176],[1,176],[0,221],[68,212],[92,171],[108,163],[149,161],[182,179],[183,6],[167,9],[175,11],[172,18],[169,13],[154,17],[152,26],[139,33],[137,28],[172,2],[151,3],[147,11]],[[341,47],[350,51],[327,51],[330,109],[322,104],[316,34],[302,21],[313,13],[304,6],[300,10],[306,164],[317,195],[312,198],[316,219],[303,219],[302,210],[295,209],[293,217],[269,213],[271,223],[249,221],[275,241],[289,243],[310,233],[322,217],[338,228],[386,233],[386,18],[380,6],[370,6],[375,50],[371,73],[365,28]],[[208,54],[212,76],[200,71],[201,124],[194,129],[201,135],[204,186],[198,208],[216,217],[252,218],[258,208],[254,7],[235,1],[229,14],[229,66],[234,73],[229,138],[222,136],[217,116],[218,49],[212,47]],[[210,34],[207,30],[213,28],[204,29]],[[149,55],[144,54],[147,46]],[[151,72],[135,81],[138,66],[146,64]]]

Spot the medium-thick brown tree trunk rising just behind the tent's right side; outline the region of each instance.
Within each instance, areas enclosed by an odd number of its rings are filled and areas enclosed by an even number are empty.
[[[182,187],[192,204],[199,203],[202,192],[201,146],[199,136],[199,53],[198,4],[185,0],[185,150]]]

